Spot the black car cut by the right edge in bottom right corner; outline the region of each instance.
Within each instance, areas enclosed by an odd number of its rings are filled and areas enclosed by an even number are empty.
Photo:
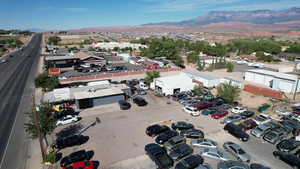
[[[300,168],[300,158],[294,154],[283,151],[274,151],[273,155],[293,168]]]

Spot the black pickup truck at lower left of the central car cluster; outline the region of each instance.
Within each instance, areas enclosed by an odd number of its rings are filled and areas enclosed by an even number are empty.
[[[166,150],[157,144],[147,144],[145,152],[159,169],[168,169],[174,165],[174,161],[167,154]]]

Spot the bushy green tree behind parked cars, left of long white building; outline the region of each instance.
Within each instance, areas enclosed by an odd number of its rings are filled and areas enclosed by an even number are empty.
[[[239,99],[241,90],[231,83],[222,83],[217,88],[218,96],[222,97],[226,103],[233,103]]]

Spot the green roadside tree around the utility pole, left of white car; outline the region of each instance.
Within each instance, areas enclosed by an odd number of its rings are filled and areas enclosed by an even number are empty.
[[[35,112],[34,112],[35,111]],[[31,138],[36,139],[38,137],[38,128],[36,122],[34,121],[34,113],[36,113],[36,118],[38,125],[40,127],[40,132],[48,146],[47,135],[50,135],[56,127],[56,118],[52,113],[52,107],[49,103],[43,103],[39,106],[39,110],[32,110],[26,113],[29,117],[28,123],[25,123],[25,131],[30,135]]]

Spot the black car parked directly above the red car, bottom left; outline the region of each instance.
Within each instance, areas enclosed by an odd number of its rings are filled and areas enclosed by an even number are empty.
[[[77,161],[90,160],[91,158],[93,158],[93,156],[94,156],[94,151],[79,150],[79,151],[69,154],[68,156],[65,156],[60,161],[60,166],[66,167],[69,164],[72,164]]]

